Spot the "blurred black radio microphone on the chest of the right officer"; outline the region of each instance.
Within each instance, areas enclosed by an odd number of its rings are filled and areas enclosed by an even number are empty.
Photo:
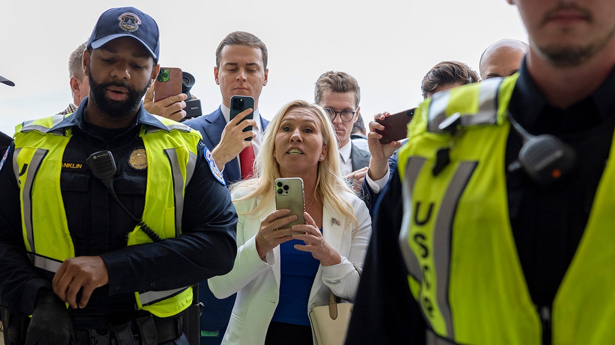
[[[548,187],[574,168],[576,153],[571,147],[550,134],[528,133],[510,113],[508,119],[523,141],[518,161],[536,184]]]

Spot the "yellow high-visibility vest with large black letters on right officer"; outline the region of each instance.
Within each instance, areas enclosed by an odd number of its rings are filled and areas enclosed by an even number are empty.
[[[431,344],[541,344],[509,220],[508,104],[518,75],[427,99],[399,152],[408,284]],[[450,125],[442,125],[445,120]],[[434,173],[437,152],[450,162]],[[615,157],[611,144],[611,157]],[[584,235],[547,315],[554,344],[615,343],[615,161],[609,160]]]

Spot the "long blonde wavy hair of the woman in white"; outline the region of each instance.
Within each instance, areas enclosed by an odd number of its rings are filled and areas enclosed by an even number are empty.
[[[352,212],[352,205],[343,197],[343,191],[355,193],[346,183],[341,171],[338,142],[335,129],[325,109],[317,104],[303,100],[292,101],[277,112],[268,125],[261,142],[261,148],[255,158],[256,175],[252,179],[242,180],[232,184],[231,193],[242,191],[240,198],[233,201],[246,200],[262,196],[263,200],[247,215],[258,215],[264,205],[269,205],[274,200],[274,181],[280,176],[280,165],[273,154],[276,152],[276,134],[282,122],[282,118],[292,109],[305,109],[314,114],[320,122],[322,130],[322,143],[327,146],[327,157],[318,163],[315,192],[322,193],[333,209],[357,224],[357,219]]]

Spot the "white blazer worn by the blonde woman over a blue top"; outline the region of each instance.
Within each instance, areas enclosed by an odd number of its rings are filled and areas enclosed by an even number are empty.
[[[237,195],[233,195],[233,198],[236,197]],[[319,266],[306,306],[308,313],[315,306],[329,303],[329,289],[336,296],[352,301],[359,286],[359,273],[352,263],[363,268],[371,237],[371,218],[365,203],[354,193],[344,192],[343,197],[352,204],[359,227],[354,225],[351,219],[333,211],[331,204],[324,201],[322,236],[329,246],[339,252],[342,260],[338,265]],[[215,276],[207,281],[209,289],[218,298],[225,298],[237,292],[222,344],[264,344],[269,322],[279,300],[280,247],[277,246],[266,254],[263,261],[256,252],[255,242],[261,219],[275,210],[275,203],[264,207],[258,217],[250,215],[250,218],[247,218],[245,215],[260,201],[261,198],[256,198],[234,203],[239,216],[235,265],[224,276]]]

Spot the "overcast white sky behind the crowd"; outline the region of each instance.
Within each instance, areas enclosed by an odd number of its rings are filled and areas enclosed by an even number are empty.
[[[249,31],[269,50],[269,83],[260,112],[271,118],[293,99],[314,101],[314,82],[348,72],[361,87],[364,120],[418,105],[424,74],[442,60],[478,72],[480,54],[502,38],[527,42],[506,0],[346,1],[4,1],[0,20],[0,131],[46,117],[73,100],[68,56],[87,40],[102,12],[134,6],[161,30],[160,63],[196,78],[204,114],[221,102],[213,80],[215,49],[226,34]]]

